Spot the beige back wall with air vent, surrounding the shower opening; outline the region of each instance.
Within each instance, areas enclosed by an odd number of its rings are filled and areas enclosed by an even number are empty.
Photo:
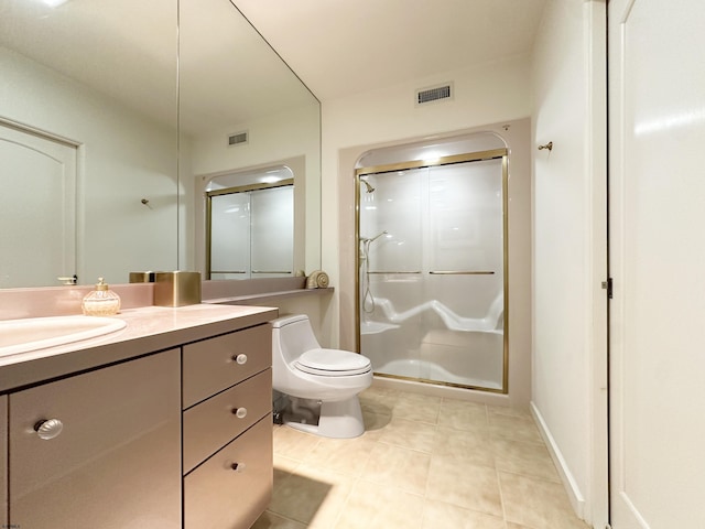
[[[426,107],[414,106],[416,88],[432,86],[443,82],[454,82],[455,96],[451,101],[432,104]],[[323,104],[323,268],[330,274],[336,294],[326,314],[325,325],[329,328],[333,343],[343,348],[355,347],[355,186],[352,169],[356,159],[366,150],[387,144],[401,144],[415,139],[432,136],[453,136],[470,130],[489,130],[490,127],[500,133],[506,132],[500,125],[525,118],[530,114],[530,64],[528,57],[517,57],[501,63],[487,64],[471,71],[456,71],[438,75],[434,78],[419,79],[414,84],[400,84],[394,87],[354,95],[343,99],[324,100]],[[528,126],[528,125],[527,125]],[[511,134],[520,134],[517,126]],[[510,129],[511,130],[511,129]],[[527,131],[528,132],[528,131]],[[528,142],[528,141],[527,141]],[[521,142],[512,144],[520,151]],[[525,154],[527,160],[529,158]],[[527,229],[529,217],[530,168],[522,173],[525,185],[525,209],[518,215],[525,215]],[[521,188],[517,181],[517,188]],[[527,231],[521,239],[525,242],[523,281],[525,294],[522,299],[521,288],[512,289],[512,299],[521,306],[525,302],[523,314],[530,313],[529,270],[530,236]],[[518,260],[522,258],[516,256]],[[514,292],[517,296],[514,298]],[[529,322],[527,322],[523,344],[525,352],[518,355],[524,365],[510,368],[510,377],[524,377],[523,380],[510,380],[511,397],[518,401],[529,399]],[[519,326],[521,330],[521,326]],[[518,330],[518,332],[520,332]],[[517,345],[521,338],[516,339]],[[512,375],[513,374],[513,375]],[[462,396],[468,397],[470,391]],[[484,398],[485,395],[475,396]],[[505,403],[508,398],[501,399]]]

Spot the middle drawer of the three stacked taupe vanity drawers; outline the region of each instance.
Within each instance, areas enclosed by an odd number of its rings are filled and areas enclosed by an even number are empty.
[[[236,411],[245,410],[245,417]],[[184,412],[184,473],[272,411],[272,370],[267,369]],[[271,422],[271,420],[270,420]]]

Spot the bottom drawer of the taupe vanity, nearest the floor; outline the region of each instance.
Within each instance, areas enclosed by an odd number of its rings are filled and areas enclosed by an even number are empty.
[[[184,529],[248,529],[272,486],[272,423],[264,418],[184,478]]]

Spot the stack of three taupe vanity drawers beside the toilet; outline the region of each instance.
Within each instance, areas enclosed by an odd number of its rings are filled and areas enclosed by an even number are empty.
[[[184,528],[247,529],[272,493],[271,327],[183,347]]]

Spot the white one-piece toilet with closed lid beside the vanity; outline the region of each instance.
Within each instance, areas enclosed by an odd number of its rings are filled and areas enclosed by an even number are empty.
[[[283,422],[326,438],[350,439],[365,432],[358,393],[372,384],[369,358],[322,348],[305,314],[272,324],[272,387],[291,406]]]

